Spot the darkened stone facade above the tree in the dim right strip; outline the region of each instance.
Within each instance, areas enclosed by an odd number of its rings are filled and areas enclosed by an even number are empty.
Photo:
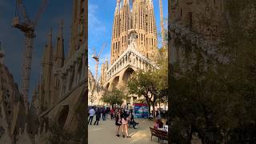
[[[182,62],[186,46],[201,46],[214,53],[214,46],[222,40],[224,0],[171,0],[169,15],[170,62]]]

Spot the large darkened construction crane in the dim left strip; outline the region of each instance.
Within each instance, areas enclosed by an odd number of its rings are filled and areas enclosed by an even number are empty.
[[[46,8],[48,0],[42,0],[42,5],[39,7],[38,13],[36,14],[34,21],[30,20],[28,14],[26,13],[25,6],[22,0],[16,0],[16,9],[13,19],[12,26],[21,30],[25,35],[25,51],[24,59],[22,65],[22,88],[21,93],[23,95],[23,100],[25,103],[26,114],[28,113],[28,95],[29,95],[29,85],[30,85],[30,71],[32,62],[32,52],[33,52],[33,42],[35,38],[35,26],[38,25],[38,20],[42,12]]]

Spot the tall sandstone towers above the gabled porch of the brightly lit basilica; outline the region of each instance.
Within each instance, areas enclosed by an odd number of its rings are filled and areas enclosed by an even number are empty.
[[[110,64],[128,48],[129,31],[137,33],[136,50],[146,58],[158,54],[158,36],[152,0],[117,0],[112,28]]]

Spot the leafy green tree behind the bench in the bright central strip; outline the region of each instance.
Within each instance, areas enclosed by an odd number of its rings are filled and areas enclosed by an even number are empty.
[[[157,102],[166,102],[168,90],[168,62],[167,50],[159,49],[159,55],[155,59],[158,69],[142,71],[138,70],[128,81],[130,94],[137,94],[138,97],[146,99],[148,112],[150,106],[153,106],[153,116],[155,116],[154,106]]]

